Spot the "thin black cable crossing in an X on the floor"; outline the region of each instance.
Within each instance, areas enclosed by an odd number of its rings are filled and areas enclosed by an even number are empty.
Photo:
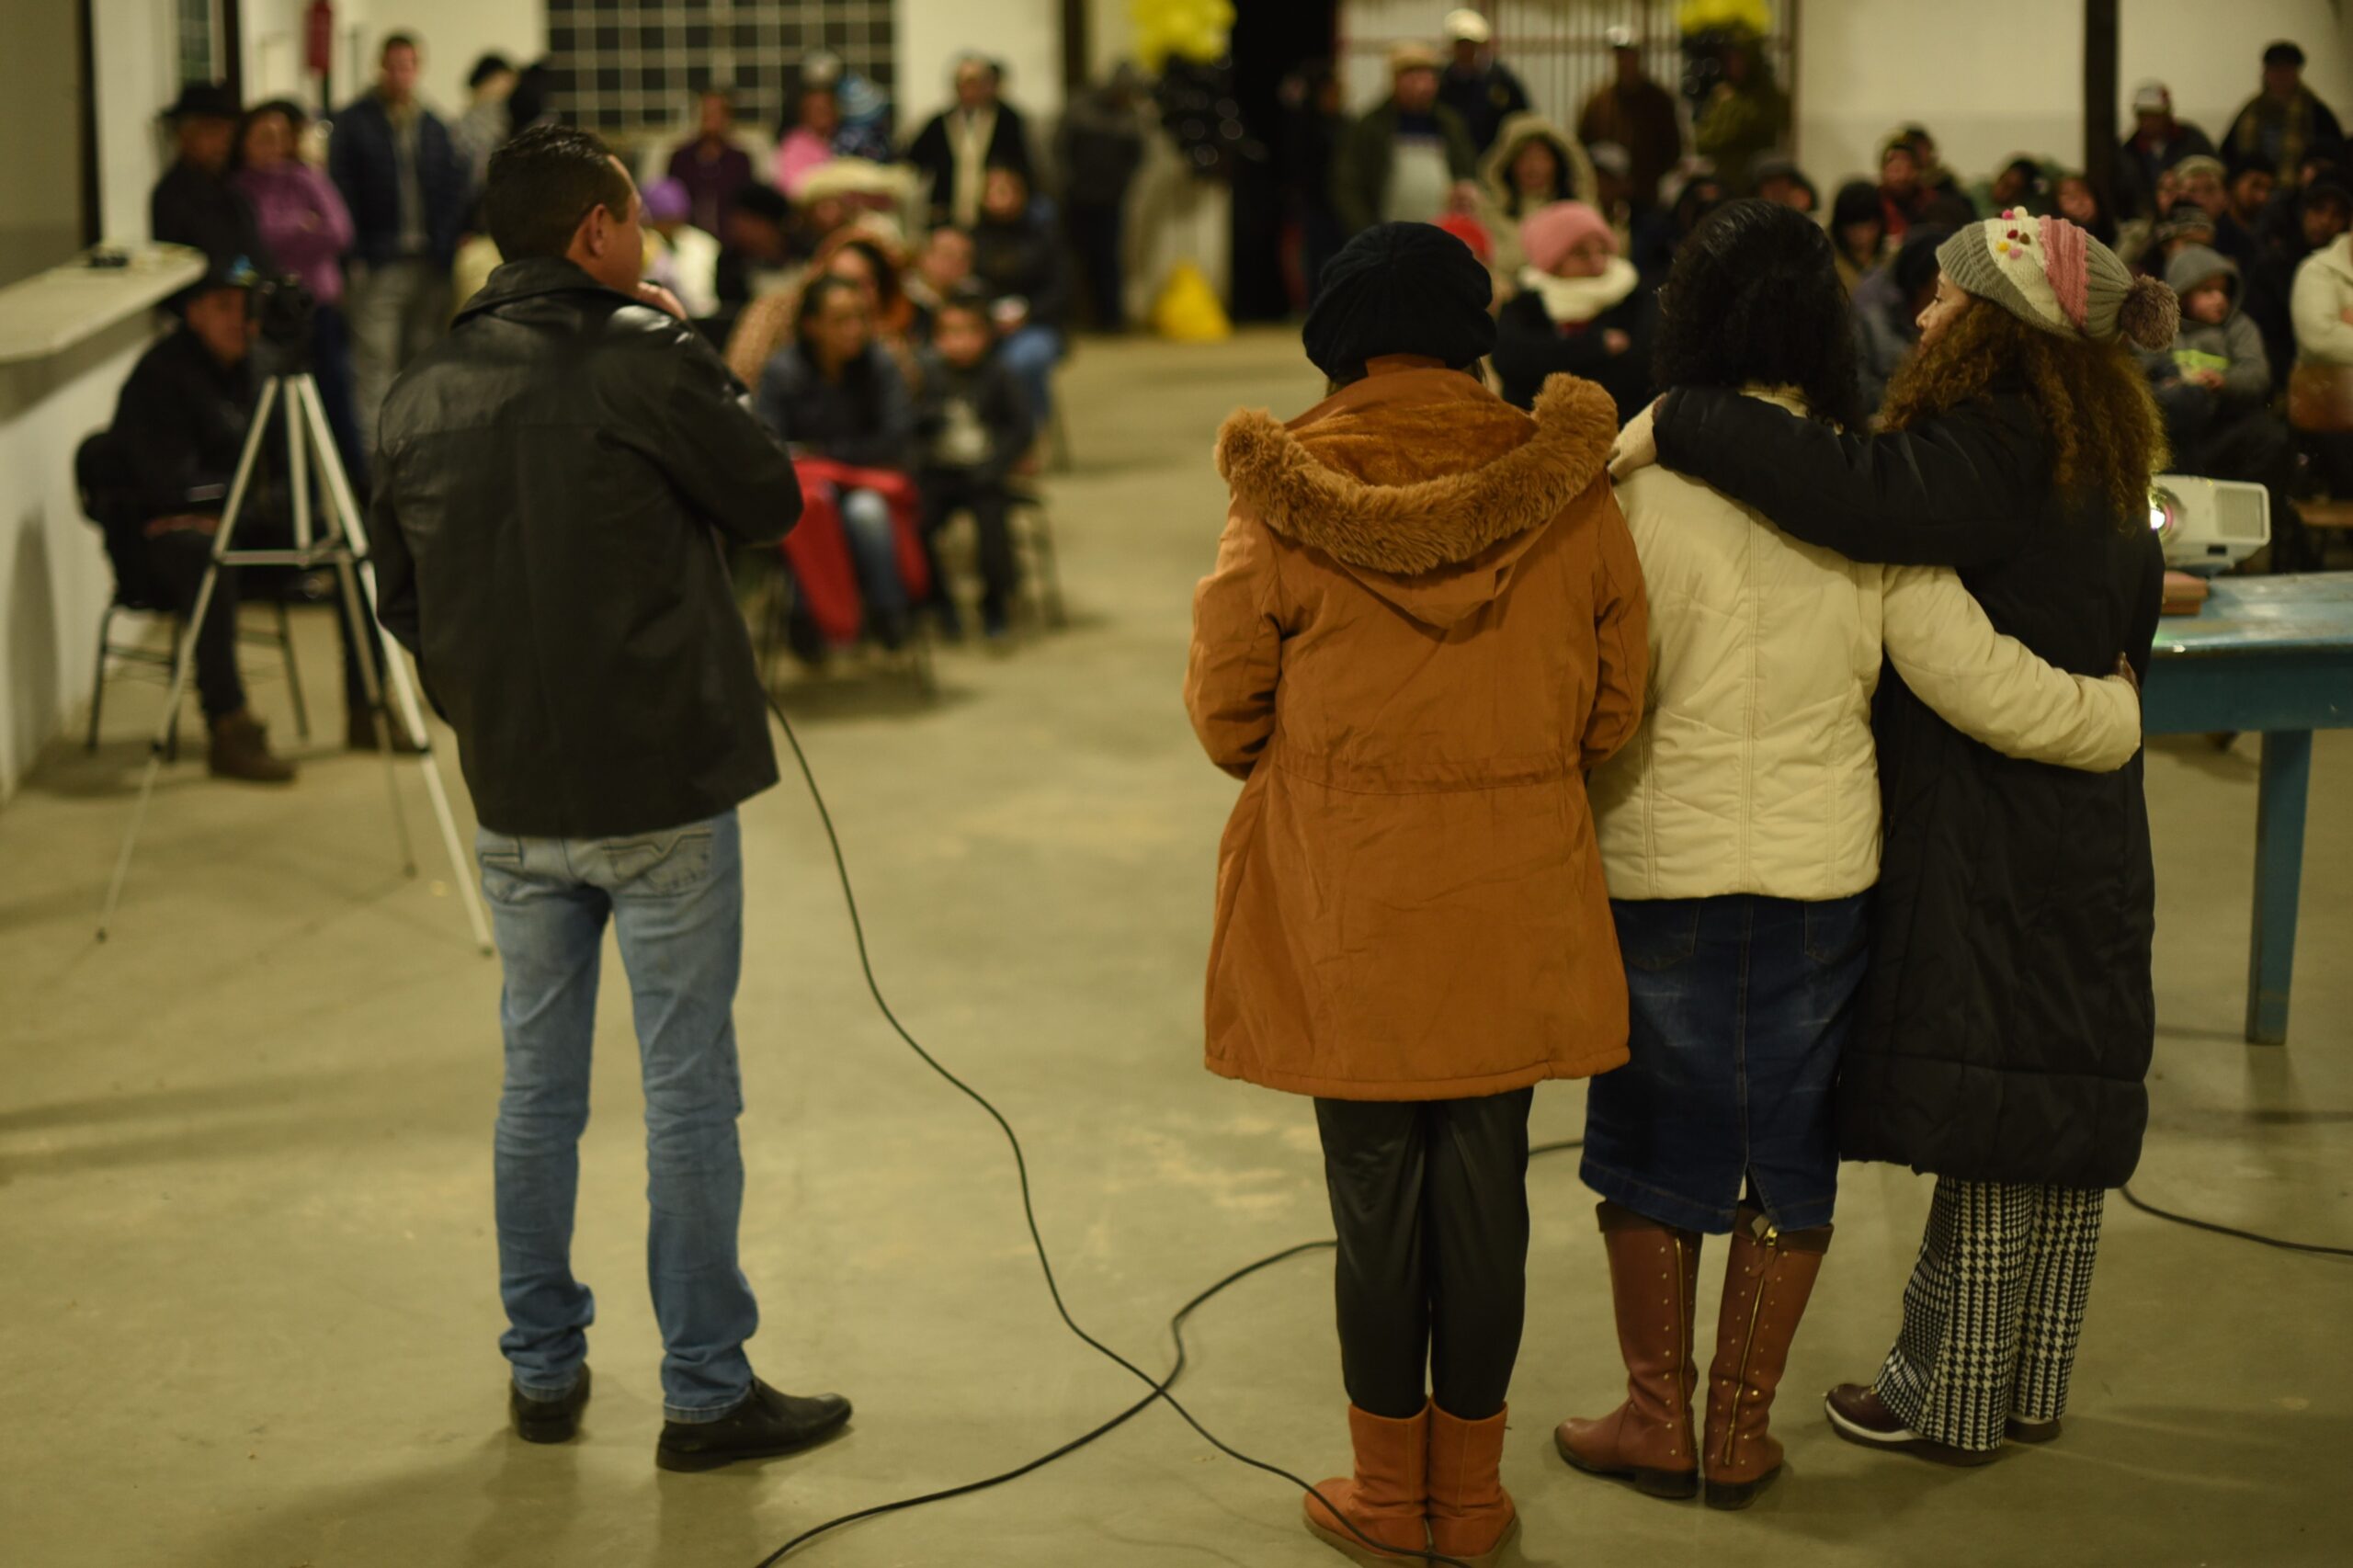
[[[892,1012],[889,998],[882,996],[882,984],[875,979],[873,956],[866,949],[866,921],[864,921],[864,916],[859,916],[859,895],[856,895],[856,890],[849,883],[849,862],[842,855],[842,836],[833,826],[833,812],[826,808],[826,793],[816,786],[816,772],[809,768],[809,756],[800,749],[800,737],[793,735],[793,720],[786,718],[784,706],[774,699],[774,695],[769,697],[767,706],[769,706],[769,711],[776,713],[776,723],[784,725],[784,739],[793,749],[793,760],[800,765],[800,777],[809,786],[809,800],[816,805],[816,819],[826,829],[826,843],[833,850],[833,871],[835,871],[835,876],[842,883],[842,904],[849,909],[849,932],[856,937],[856,946],[859,946],[859,970],[866,975],[866,994],[873,996],[873,1003],[875,1003],[875,1008],[880,1008],[882,1019],[906,1043],[906,1048],[913,1050],[918,1057],[922,1057],[925,1067],[929,1067],[934,1074],[939,1074],[941,1078],[946,1078],[948,1085],[953,1085],[972,1104],[981,1107],[988,1114],[988,1118],[993,1123],[998,1123],[998,1130],[1005,1132],[1005,1142],[1007,1142],[1007,1147],[1014,1154],[1014,1175],[1021,1182],[1021,1220],[1028,1224],[1031,1250],[1038,1253],[1038,1269],[1045,1274],[1047,1295],[1054,1300],[1054,1314],[1061,1318],[1064,1328],[1068,1328],[1073,1335],[1078,1335],[1078,1340],[1082,1344],[1087,1344],[1087,1349],[1096,1351],[1106,1361],[1111,1361],[1118,1368],[1122,1368],[1125,1373],[1129,1373],[1136,1382],[1146,1384],[1151,1389],[1151,1394],[1146,1394],[1144,1398],[1139,1398],[1129,1408],[1120,1410],[1118,1415],[1113,1415],[1101,1427],[1094,1427],[1092,1431],[1085,1431],[1085,1434],[1071,1439],[1068,1443],[1064,1443],[1061,1448],[1054,1448],[1052,1453],[1042,1453],[1042,1455],[1038,1455],[1035,1460],[1031,1460],[1026,1464],[1016,1464],[1014,1469],[1007,1469],[1007,1471],[1000,1471],[1000,1474],[993,1474],[993,1476],[984,1476],[979,1481],[967,1481],[965,1486],[951,1486],[951,1488],[944,1488],[944,1490],[936,1490],[936,1493],[925,1493],[920,1497],[901,1497],[896,1502],[878,1502],[875,1507],[859,1509],[854,1514],[842,1514],[840,1519],[828,1519],[821,1526],[812,1526],[812,1528],[802,1530],[800,1535],[795,1535],[793,1540],[788,1540],[781,1547],[776,1547],[774,1552],[769,1552],[765,1559],[760,1559],[758,1568],[772,1568],[786,1554],[791,1554],[798,1547],[816,1540],[819,1535],[826,1535],[831,1530],[840,1530],[842,1526],[856,1523],[861,1519],[878,1519],[882,1514],[901,1514],[906,1509],[918,1509],[918,1507],[925,1507],[929,1502],[946,1502],[948,1497],[969,1497],[972,1493],[984,1493],[988,1488],[1005,1486],[1007,1481],[1019,1481],[1021,1476],[1040,1471],[1047,1464],[1052,1464],[1054,1460],[1073,1455],[1080,1448],[1085,1448],[1087,1443],[1094,1443],[1096,1439],[1101,1439],[1101,1436],[1106,1436],[1106,1434],[1125,1427],[1129,1420],[1134,1420],[1144,1410],[1153,1408],[1153,1403],[1165,1403],[1169,1410],[1174,1410],[1176,1415],[1181,1415],[1184,1422],[1195,1434],[1200,1434],[1200,1439],[1205,1443],[1209,1443],[1212,1448],[1217,1448],[1228,1460],[1238,1460],[1238,1462],[1242,1462],[1242,1464],[1247,1464],[1252,1469],[1266,1471],[1268,1476],[1275,1476],[1280,1481],[1289,1481],[1301,1493],[1313,1495],[1318,1502],[1322,1502],[1327,1509],[1332,1509],[1329,1500],[1325,1500],[1322,1493],[1318,1493],[1304,1479],[1294,1476],[1292,1471],[1282,1469],[1280,1464],[1268,1464],[1266,1460],[1254,1460],[1252,1455],[1242,1453],[1240,1448],[1233,1448],[1231,1443],[1226,1443],[1224,1439],[1219,1439],[1214,1431],[1209,1431],[1207,1427],[1202,1427],[1200,1420],[1195,1420],[1193,1413],[1186,1410],[1169,1389],[1176,1384],[1176,1380],[1184,1375],[1184,1368],[1186,1368],[1184,1326],[1186,1326],[1186,1318],[1191,1318],[1195,1309],[1200,1309],[1202,1304],[1207,1304],[1212,1297],[1217,1297],[1228,1285],[1235,1285],[1235,1283],[1249,1278],[1252,1274],[1259,1274],[1261,1269],[1271,1269],[1271,1267],[1275,1267],[1280,1262],[1289,1262],[1292,1257],[1301,1257],[1304,1253],[1318,1253],[1318,1250],[1332,1248],[1337,1243],[1334,1241],[1304,1241],[1304,1243],[1299,1243],[1294,1248],[1285,1248],[1280,1253],[1273,1253],[1268,1257],[1261,1257],[1261,1260],[1257,1260],[1252,1264],[1245,1264],[1245,1267],[1235,1269],[1233,1274],[1228,1274],[1226,1278],[1217,1281],[1214,1285],[1209,1285],[1207,1290],[1202,1290],[1200,1295],[1195,1295],[1191,1302],[1186,1302],[1176,1311],[1176,1316],[1169,1318],[1169,1337],[1174,1337],[1174,1342],[1176,1342],[1176,1361],[1169,1366],[1167,1377],[1153,1377],[1151,1373],[1146,1373],[1144,1368],[1139,1368],[1134,1361],[1129,1361],[1127,1356],[1122,1356],[1120,1351],[1111,1349],[1108,1344],[1104,1344],[1101,1340],[1096,1340],[1094,1335],[1089,1335],[1085,1328],[1080,1328],[1078,1318],[1071,1316],[1071,1309],[1061,1300],[1061,1283],[1054,1278],[1054,1262],[1047,1257],[1045,1234],[1038,1229],[1038,1208],[1031,1201],[1028,1156],[1021,1149],[1021,1137],[1014,1132],[1012,1123],[1005,1121],[1005,1114],[998,1111],[998,1107],[993,1107],[988,1102],[986,1095],[981,1095],[976,1088],[972,1088],[969,1083],[965,1083],[962,1078],[958,1078],[953,1071],[948,1071],[939,1062],[939,1057],[934,1057],[929,1050],[922,1048],[922,1041],[918,1041],[913,1034],[908,1034],[906,1024],[899,1022],[899,1015]],[[1584,1140],[1562,1140],[1562,1142],[1553,1142],[1553,1144],[1539,1144],[1539,1147],[1529,1149],[1527,1154],[1529,1154],[1529,1158],[1537,1158],[1537,1156],[1544,1156],[1544,1154],[1560,1154],[1565,1149],[1577,1149],[1581,1142]],[[1447,1563],[1449,1568],[1464,1568],[1464,1563],[1459,1559],[1440,1556],[1438,1552],[1395,1552],[1391,1547],[1381,1547],[1381,1542],[1377,1542],[1369,1535],[1365,1535],[1362,1530],[1358,1530],[1355,1521],[1351,1521],[1339,1509],[1332,1509],[1332,1516],[1339,1519],[1341,1526],[1346,1526],[1348,1533],[1355,1535],[1358,1540],[1362,1540],[1367,1547],[1374,1547],[1374,1549],[1386,1552],[1391,1556],[1398,1556],[1402,1561]]]

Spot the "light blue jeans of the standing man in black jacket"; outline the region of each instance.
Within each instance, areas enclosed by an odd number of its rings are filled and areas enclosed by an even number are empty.
[[[562,1398],[588,1356],[595,1297],[572,1278],[579,1137],[609,916],[628,970],[645,1069],[652,1227],[645,1267],[661,1323],[673,1422],[718,1420],[751,1394],[744,1342],[760,1326],[736,1267],[744,1156],[734,991],[744,968],[736,815],[621,838],[475,836],[506,989],[499,1097],[499,1349],[515,1387]]]

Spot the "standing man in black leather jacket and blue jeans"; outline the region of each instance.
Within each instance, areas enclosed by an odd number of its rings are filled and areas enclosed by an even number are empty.
[[[384,624],[456,730],[506,965],[511,1413],[560,1443],[588,1401],[572,1203],[612,921],[645,1064],[654,1462],[711,1469],[849,1420],[753,1377],[736,1264],[734,808],[776,782],[776,753],[720,546],[779,542],[800,483],[678,301],[640,283],[642,205],[602,141],[522,132],[489,162],[485,214],[506,264],[386,400],[369,537]]]

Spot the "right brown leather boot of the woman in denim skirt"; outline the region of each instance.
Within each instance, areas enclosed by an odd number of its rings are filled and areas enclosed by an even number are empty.
[[[1744,1509],[1781,1474],[1781,1443],[1767,1431],[1772,1394],[1788,1366],[1805,1300],[1831,1248],[1831,1227],[1777,1231],[1762,1210],[1741,1208],[1725,1262],[1725,1304],[1708,1368],[1708,1507]]]

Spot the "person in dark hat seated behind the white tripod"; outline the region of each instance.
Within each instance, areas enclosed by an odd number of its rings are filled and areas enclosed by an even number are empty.
[[[212,560],[228,485],[252,428],[261,377],[254,370],[254,327],[247,292],[252,266],[216,266],[181,301],[181,325],[139,356],[115,403],[115,421],[94,459],[94,511],[106,530],[115,577],[134,598],[186,622]],[[285,445],[256,459],[238,516],[238,549],[289,542]],[[341,600],[336,600],[341,607]],[[360,655],[344,619],[344,702],[353,751],[374,751]],[[216,777],[287,784],[294,763],[275,756],[261,723],[245,704],[238,676],[238,570],[224,567],[195,633],[195,695],[212,732]],[[398,739],[409,751],[412,744]]]

